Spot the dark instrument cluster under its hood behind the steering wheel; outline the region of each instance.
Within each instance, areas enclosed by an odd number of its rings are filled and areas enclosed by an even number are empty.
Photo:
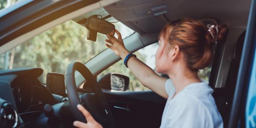
[[[18,113],[42,111],[45,104],[56,103],[52,94],[38,79],[26,77],[17,79],[11,83],[11,87]]]

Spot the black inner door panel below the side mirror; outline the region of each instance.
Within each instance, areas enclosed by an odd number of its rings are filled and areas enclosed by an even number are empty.
[[[159,128],[166,99],[153,91],[102,90],[110,105],[116,128]]]

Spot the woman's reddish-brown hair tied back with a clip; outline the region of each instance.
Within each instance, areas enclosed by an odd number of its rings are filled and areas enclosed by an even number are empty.
[[[218,26],[218,35],[215,29],[211,31],[215,37],[218,36],[216,40],[218,43],[226,41],[229,31],[227,25]],[[204,69],[212,62],[212,46],[215,44],[215,39],[201,21],[189,18],[175,20],[162,29],[159,37],[161,36],[171,46],[177,45],[180,48],[190,70]]]

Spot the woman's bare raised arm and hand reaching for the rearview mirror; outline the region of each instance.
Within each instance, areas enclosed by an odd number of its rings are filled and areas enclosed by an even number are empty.
[[[112,49],[116,55],[120,56],[122,60],[124,60],[130,52],[125,48],[121,34],[117,30],[115,32],[118,35],[118,38],[107,35],[108,39],[105,41],[112,44],[112,46],[109,44],[106,44],[106,46]],[[168,98],[168,94],[165,90],[165,78],[157,75],[154,70],[136,57],[131,57],[127,65],[134,76],[143,84],[143,86],[148,87],[166,99]]]

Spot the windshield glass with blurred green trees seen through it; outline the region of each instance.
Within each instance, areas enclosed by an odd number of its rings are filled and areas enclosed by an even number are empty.
[[[90,12],[91,13],[91,12]],[[127,26],[111,19],[122,38],[133,34]],[[40,67],[44,73],[39,78],[46,81],[48,72],[65,73],[66,67],[73,61],[86,62],[102,52],[106,35],[98,33],[96,42],[87,40],[87,29],[73,20],[55,26],[14,49],[0,55],[0,70]]]

